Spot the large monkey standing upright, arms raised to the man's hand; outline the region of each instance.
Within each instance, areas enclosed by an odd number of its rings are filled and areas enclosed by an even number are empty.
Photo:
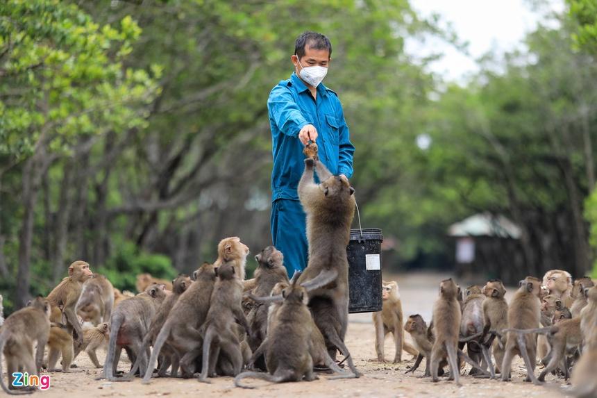
[[[314,182],[314,172],[321,183]],[[348,258],[351,222],[355,212],[355,190],[345,177],[333,176],[323,163],[305,159],[305,171],[299,181],[299,199],[307,215],[308,265],[299,283],[309,293],[309,306],[315,324],[326,339],[330,356],[336,349],[344,355],[354,374],[353,358],[344,344],[348,326]],[[327,276],[335,280],[322,288],[310,289]]]

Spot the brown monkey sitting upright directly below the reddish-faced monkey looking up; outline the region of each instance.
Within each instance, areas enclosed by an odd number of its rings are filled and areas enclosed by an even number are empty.
[[[215,268],[215,273],[217,279],[210,299],[210,310],[201,326],[201,334],[204,337],[201,358],[203,364],[199,381],[207,381],[208,375],[215,373],[220,352],[232,363],[233,375],[239,374],[243,360],[235,322],[239,322],[246,332],[251,334],[251,328],[240,306],[243,285],[235,272],[234,264],[223,263]]]

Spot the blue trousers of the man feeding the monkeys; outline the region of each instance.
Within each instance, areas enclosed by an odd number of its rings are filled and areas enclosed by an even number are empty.
[[[288,276],[307,267],[309,246],[307,243],[306,215],[298,200],[277,199],[271,204],[271,240],[276,249],[284,254]]]

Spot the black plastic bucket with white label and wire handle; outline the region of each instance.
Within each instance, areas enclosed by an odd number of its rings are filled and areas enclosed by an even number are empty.
[[[362,233],[362,235],[361,235]],[[351,229],[348,254],[348,313],[380,311],[381,229]]]

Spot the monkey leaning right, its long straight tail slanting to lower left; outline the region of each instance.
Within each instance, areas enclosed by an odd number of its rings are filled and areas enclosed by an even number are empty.
[[[201,356],[203,342],[199,327],[205,322],[210,309],[210,298],[216,279],[214,268],[212,264],[203,263],[194,274],[196,280],[178,297],[162,330],[155,338],[143,383],[149,383],[151,372],[165,343],[178,354],[183,377],[194,374],[195,359]]]

